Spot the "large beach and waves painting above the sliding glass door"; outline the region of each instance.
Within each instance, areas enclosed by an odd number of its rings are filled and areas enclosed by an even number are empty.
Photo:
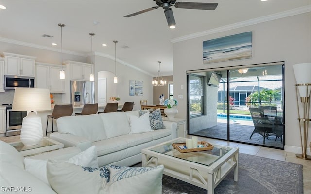
[[[253,57],[252,32],[203,41],[203,63]]]

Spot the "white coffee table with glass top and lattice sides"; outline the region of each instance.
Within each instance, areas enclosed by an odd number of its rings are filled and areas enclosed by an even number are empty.
[[[212,150],[181,153],[172,146],[185,141],[186,138],[179,137],[143,149],[142,166],[164,165],[165,175],[204,188],[208,194],[214,193],[231,170],[234,170],[234,181],[238,181],[238,147],[212,144]]]

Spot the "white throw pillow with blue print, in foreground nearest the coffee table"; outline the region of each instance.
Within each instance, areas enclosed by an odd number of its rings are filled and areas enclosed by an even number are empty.
[[[104,193],[109,194],[161,194],[164,166],[120,167],[110,165],[109,187]]]

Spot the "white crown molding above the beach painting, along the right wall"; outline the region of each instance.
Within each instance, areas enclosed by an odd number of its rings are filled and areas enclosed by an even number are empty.
[[[180,36],[177,38],[173,38],[170,41],[172,43],[182,42],[182,41],[190,40],[193,38],[198,38],[198,37],[202,37],[202,36],[206,36],[206,35],[210,35],[210,34],[214,34],[214,33],[219,33],[219,32],[225,32],[228,30],[242,28],[245,26],[250,26],[250,25],[254,25],[254,24],[258,24],[258,23],[262,23],[262,22],[266,22],[266,21],[271,21],[271,20],[275,20],[275,19],[280,19],[280,18],[284,18],[284,17],[288,17],[288,16],[295,16],[295,15],[303,14],[303,13],[307,13],[307,12],[311,12],[311,5],[291,9],[291,10],[284,11],[284,12],[279,12],[279,13],[268,15],[268,16],[262,16],[262,17],[258,17],[255,19],[250,19],[250,20],[246,20],[246,21],[242,21],[242,22],[238,22],[238,23],[234,23],[234,24],[229,24],[226,26],[214,28],[211,30],[203,31],[203,32],[197,32],[197,33],[192,33],[192,34],[185,35],[185,36]]]

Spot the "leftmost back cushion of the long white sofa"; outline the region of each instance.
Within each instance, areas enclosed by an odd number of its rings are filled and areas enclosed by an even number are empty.
[[[57,129],[60,133],[85,137],[92,142],[107,138],[98,114],[60,117],[57,119]]]

